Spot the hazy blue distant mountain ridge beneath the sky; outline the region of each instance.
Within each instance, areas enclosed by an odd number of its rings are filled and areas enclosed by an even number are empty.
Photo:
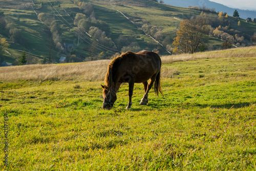
[[[225,5],[211,2],[209,0],[204,0],[204,1],[198,1],[198,0],[184,0],[184,1],[178,1],[178,0],[165,0],[165,4],[168,5],[173,5],[177,7],[189,7],[189,6],[200,6],[200,7],[207,7],[207,8],[215,8],[216,11],[219,12],[226,12],[228,15],[232,16],[235,8],[230,8]],[[251,11],[251,10],[241,10],[237,9],[240,15],[240,18],[246,19],[247,17],[250,18],[256,18],[256,11]]]

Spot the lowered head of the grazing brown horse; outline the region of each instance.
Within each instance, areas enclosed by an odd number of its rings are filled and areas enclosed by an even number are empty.
[[[103,109],[112,109],[117,97],[116,92],[113,89],[110,89],[106,86],[102,86],[103,88]]]

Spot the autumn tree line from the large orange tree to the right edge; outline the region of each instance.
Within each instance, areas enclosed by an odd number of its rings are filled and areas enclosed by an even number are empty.
[[[233,16],[239,20],[237,10],[234,11]],[[215,26],[218,27],[214,28]],[[238,27],[240,26],[241,23],[239,20]],[[203,12],[200,16],[184,19],[180,23],[176,34],[177,37],[175,37],[173,41],[174,53],[205,51],[210,38],[209,36],[224,40],[222,44],[223,49],[231,48],[232,45],[244,47],[248,45],[248,41],[251,41],[252,45],[255,45],[256,42],[256,32],[252,36],[249,36],[248,34],[232,29],[228,15],[223,12],[220,12],[218,17],[213,19],[209,19]]]

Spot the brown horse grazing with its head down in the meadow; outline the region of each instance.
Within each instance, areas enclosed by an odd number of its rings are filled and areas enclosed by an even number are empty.
[[[125,52],[114,58],[105,75],[105,86],[103,88],[103,109],[111,109],[117,99],[116,93],[123,82],[129,83],[129,103],[126,109],[132,105],[132,95],[134,83],[142,82],[145,94],[140,101],[141,105],[146,105],[148,92],[155,82],[155,93],[161,94],[160,88],[161,58],[155,52],[140,51],[138,53]],[[147,80],[150,79],[150,83]]]

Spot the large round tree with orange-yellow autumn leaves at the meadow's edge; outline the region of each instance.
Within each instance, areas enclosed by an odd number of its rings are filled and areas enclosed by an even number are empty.
[[[174,53],[195,53],[207,42],[209,26],[202,17],[185,19],[180,23],[177,37],[174,38]]]

